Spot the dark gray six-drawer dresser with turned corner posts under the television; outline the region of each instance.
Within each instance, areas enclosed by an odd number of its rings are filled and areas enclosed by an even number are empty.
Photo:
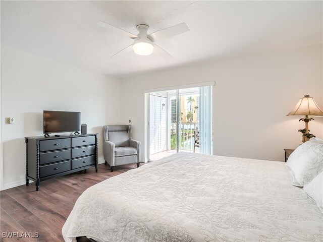
[[[97,135],[26,137],[26,185],[95,166],[97,171]]]

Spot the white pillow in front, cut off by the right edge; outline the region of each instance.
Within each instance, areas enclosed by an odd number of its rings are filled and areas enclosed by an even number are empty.
[[[307,184],[303,191],[312,198],[317,206],[323,211],[323,172],[319,173]]]

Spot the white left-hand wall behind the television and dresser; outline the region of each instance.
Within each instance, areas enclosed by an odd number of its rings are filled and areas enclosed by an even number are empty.
[[[103,162],[102,126],[120,123],[120,80],[1,46],[3,184],[25,183],[25,140],[41,136],[42,111],[80,111],[88,133],[99,133],[98,161]],[[15,125],[5,125],[15,117]]]

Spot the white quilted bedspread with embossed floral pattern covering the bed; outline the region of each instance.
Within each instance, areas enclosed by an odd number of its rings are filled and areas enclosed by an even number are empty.
[[[284,162],[178,153],[106,179],[77,200],[72,241],[322,241],[315,202]],[[73,241],[76,241],[73,239]]]

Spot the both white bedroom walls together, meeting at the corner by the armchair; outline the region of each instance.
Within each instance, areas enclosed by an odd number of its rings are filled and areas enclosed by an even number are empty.
[[[144,143],[143,90],[216,81],[213,91],[213,153],[283,160],[284,148],[301,142],[304,123],[286,114],[309,94],[323,108],[322,45],[272,54],[205,62],[122,80],[1,46],[1,190],[25,183],[26,136],[42,135],[42,111],[80,111],[88,132],[132,120],[133,138]],[[121,102],[121,104],[120,104]],[[122,112],[121,112],[122,110]],[[15,125],[5,125],[5,117]],[[309,124],[323,137],[323,117]],[[144,154],[144,150],[142,150]]]

